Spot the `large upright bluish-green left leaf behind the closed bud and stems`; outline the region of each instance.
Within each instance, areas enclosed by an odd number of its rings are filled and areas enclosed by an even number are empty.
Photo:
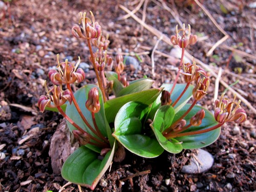
[[[88,92],[93,87],[97,87],[97,86],[93,85],[93,84],[87,84],[84,87],[81,87],[79,90],[77,90],[75,92],[74,96],[76,98],[76,101],[77,101],[84,117],[87,119],[88,123],[94,128],[91,112],[88,111],[86,106],[85,106],[85,102],[87,101],[87,98],[88,98]],[[97,88],[98,88],[98,91],[99,91],[100,111],[95,114],[96,123],[97,123],[97,126],[98,126],[99,130],[101,131],[102,135],[104,137],[108,137],[108,139],[111,143],[111,146],[112,146],[114,139],[111,136],[111,128],[109,127],[108,121],[106,120],[106,117],[105,117],[105,110],[104,110],[104,102],[103,102],[103,98],[102,98],[102,93],[101,93],[99,87],[97,87]],[[73,103],[71,105],[67,104],[66,114],[74,122],[76,122],[76,124],[79,125],[82,129],[84,129],[85,131],[87,131],[88,133],[93,135],[93,137],[99,138],[84,123],[83,119],[79,115],[79,113],[76,110],[76,107]],[[74,129],[76,129],[68,121],[67,121],[67,125],[68,125],[70,131],[73,131]],[[97,151],[97,152],[101,151],[101,148],[98,148],[95,145],[86,145],[86,146],[90,147],[94,151]]]

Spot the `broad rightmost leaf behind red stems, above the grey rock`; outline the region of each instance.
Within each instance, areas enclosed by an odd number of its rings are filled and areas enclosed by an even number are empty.
[[[177,121],[177,119],[182,114],[184,114],[190,106],[191,106],[191,104],[186,104],[177,114],[175,114],[173,122]],[[209,110],[207,110],[201,106],[195,105],[192,108],[192,110],[184,118],[186,120],[187,125],[189,124],[189,120],[191,119],[191,117],[194,116],[195,113],[197,113],[201,109],[204,109],[204,112],[205,112],[205,117],[202,120],[201,125],[199,125],[197,127],[191,126],[186,131],[183,131],[183,132],[203,130],[206,128],[211,128],[214,125],[218,124],[218,122],[215,121],[214,116],[212,115],[212,113]],[[181,144],[183,146],[183,148],[193,149],[193,148],[202,148],[202,147],[212,144],[213,142],[215,142],[215,140],[218,139],[220,134],[221,134],[221,128],[217,128],[213,131],[209,131],[204,134],[176,137],[175,139],[178,140],[179,142],[183,142]]]

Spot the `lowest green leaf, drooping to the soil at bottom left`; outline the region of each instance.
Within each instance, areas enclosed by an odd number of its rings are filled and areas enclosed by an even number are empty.
[[[95,189],[112,162],[114,148],[115,142],[112,150],[100,160],[98,153],[81,146],[67,158],[61,169],[61,176],[71,183]]]

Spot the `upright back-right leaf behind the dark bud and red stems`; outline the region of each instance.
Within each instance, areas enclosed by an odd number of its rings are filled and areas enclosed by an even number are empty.
[[[173,84],[162,84],[161,87],[164,87],[164,90],[171,91],[172,85]],[[186,84],[176,84],[171,95],[172,102],[175,102],[175,100],[180,96],[180,94],[182,93],[185,87],[186,87]],[[192,96],[193,88],[194,88],[193,85],[189,85],[184,95],[180,98],[179,102],[177,102],[177,104],[175,105],[174,107],[175,113],[177,113],[189,101],[189,99]],[[161,95],[157,97],[156,101],[151,106],[151,111],[148,115],[150,119],[154,118],[154,114],[156,113],[157,109],[160,108],[161,106],[160,98],[161,98]]]

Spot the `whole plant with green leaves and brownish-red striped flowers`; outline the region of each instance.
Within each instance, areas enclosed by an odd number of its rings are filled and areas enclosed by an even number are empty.
[[[128,82],[122,76],[125,67],[122,55],[113,61],[107,54],[108,36],[102,35],[101,26],[92,12],[90,15],[89,18],[80,13],[79,25],[73,26],[72,34],[87,41],[98,86],[86,84],[73,93],[71,84],[85,79],[84,71],[79,68],[80,58],[75,64],[67,59],[60,62],[57,55],[58,70],[48,73],[54,85],[47,88],[45,83],[47,95],[38,100],[42,112],[52,108],[64,116],[81,145],[64,163],[61,171],[64,179],[94,189],[113,160],[117,142],[134,154],[153,158],[164,150],[179,153],[210,145],[219,137],[225,122],[241,123],[247,118],[240,100],[230,101],[224,94],[215,101],[214,115],[196,105],[207,94],[210,81],[206,71],[194,61],[183,61],[186,47],[197,41],[189,25],[188,29],[185,24],[182,29],[176,27],[176,35],[170,38],[172,44],[182,49],[174,83],[151,88],[152,79]],[[98,48],[96,52],[92,45]],[[115,72],[105,71],[105,66],[112,62]],[[177,84],[180,75],[185,79],[184,84]],[[114,99],[109,99],[111,94]]]

